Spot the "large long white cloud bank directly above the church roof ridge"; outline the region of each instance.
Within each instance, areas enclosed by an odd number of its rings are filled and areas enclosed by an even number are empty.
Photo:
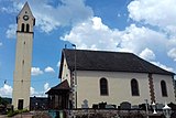
[[[77,24],[61,39],[76,44],[78,49],[125,51],[136,54],[146,47],[162,52],[167,42],[164,34],[135,24],[131,24],[124,31],[110,29],[97,17]]]

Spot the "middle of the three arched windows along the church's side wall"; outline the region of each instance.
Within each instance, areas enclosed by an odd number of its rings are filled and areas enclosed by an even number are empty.
[[[131,79],[131,94],[132,96],[140,96],[139,83],[136,79]]]

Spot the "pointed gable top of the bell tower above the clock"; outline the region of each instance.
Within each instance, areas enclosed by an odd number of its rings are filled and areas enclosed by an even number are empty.
[[[28,11],[28,14],[30,14],[30,15],[32,15],[32,17],[34,18],[34,15],[32,14],[32,11],[31,11],[31,9],[30,9],[30,6],[29,6],[28,1],[26,1],[25,4],[23,6],[23,8],[22,8],[22,10],[20,11],[19,15],[25,14],[25,13],[26,13],[25,11]],[[19,17],[19,15],[18,15],[18,17]]]

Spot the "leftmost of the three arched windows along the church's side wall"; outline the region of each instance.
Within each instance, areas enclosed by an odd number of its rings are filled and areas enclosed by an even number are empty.
[[[100,79],[100,95],[108,95],[108,81],[106,78]]]

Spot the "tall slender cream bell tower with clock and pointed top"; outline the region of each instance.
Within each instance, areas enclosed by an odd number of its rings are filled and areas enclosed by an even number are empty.
[[[28,2],[16,17],[16,23],[12,105],[14,109],[30,109],[31,63],[35,18]]]

